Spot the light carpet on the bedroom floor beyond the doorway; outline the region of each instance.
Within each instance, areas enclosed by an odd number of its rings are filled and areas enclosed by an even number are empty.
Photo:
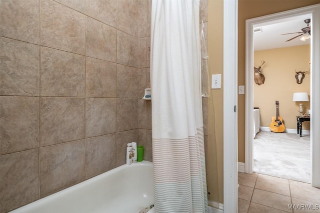
[[[253,140],[253,172],[310,183],[310,136],[260,131]]]

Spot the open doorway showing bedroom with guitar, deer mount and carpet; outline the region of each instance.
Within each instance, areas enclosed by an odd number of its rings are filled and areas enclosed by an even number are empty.
[[[310,126],[302,123],[303,137],[299,137],[300,102],[293,102],[292,95],[305,92],[305,112],[310,108],[310,39],[299,39],[304,38],[301,29],[310,16],[253,28],[253,172],[305,183],[311,180]],[[304,75],[301,81],[295,79],[298,72]],[[306,119],[307,112],[303,114]]]

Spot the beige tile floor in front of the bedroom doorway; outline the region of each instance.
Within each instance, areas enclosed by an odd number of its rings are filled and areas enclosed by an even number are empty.
[[[262,174],[238,173],[238,213],[320,213],[320,189]]]

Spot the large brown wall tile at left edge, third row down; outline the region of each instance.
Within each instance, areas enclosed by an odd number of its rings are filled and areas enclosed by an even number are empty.
[[[0,154],[39,146],[39,98],[0,97]]]

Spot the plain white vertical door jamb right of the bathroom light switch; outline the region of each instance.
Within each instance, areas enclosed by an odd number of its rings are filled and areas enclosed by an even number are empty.
[[[223,1],[223,212],[237,212],[238,1]]]

